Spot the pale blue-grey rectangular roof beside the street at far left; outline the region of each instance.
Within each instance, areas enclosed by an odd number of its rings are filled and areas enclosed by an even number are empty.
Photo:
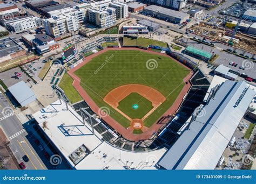
[[[8,89],[22,107],[36,100],[35,93],[24,81],[18,82]]]

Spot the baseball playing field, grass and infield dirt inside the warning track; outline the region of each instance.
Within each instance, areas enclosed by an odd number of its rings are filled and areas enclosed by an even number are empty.
[[[136,133],[143,133],[142,126],[150,128],[163,116],[190,74],[167,55],[138,49],[103,52],[74,71],[92,101],[108,109],[107,114],[124,128],[133,122]]]

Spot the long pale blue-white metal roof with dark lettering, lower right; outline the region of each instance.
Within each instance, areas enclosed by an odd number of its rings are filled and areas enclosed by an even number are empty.
[[[244,81],[225,81],[158,165],[165,169],[214,169],[254,95]]]

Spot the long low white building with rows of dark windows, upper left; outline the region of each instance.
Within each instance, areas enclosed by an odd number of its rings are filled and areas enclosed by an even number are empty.
[[[43,26],[43,20],[41,18],[33,16],[21,18],[6,24],[6,27],[9,31],[13,31],[16,33],[33,30],[41,26]]]

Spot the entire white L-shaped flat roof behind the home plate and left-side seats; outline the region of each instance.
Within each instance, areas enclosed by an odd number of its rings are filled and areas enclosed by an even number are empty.
[[[32,115],[45,135],[59,152],[76,169],[156,169],[158,160],[167,151],[165,148],[151,152],[132,152],[121,150],[102,141],[102,136],[84,126],[82,117],[69,105],[57,100],[48,107]],[[74,164],[70,155],[85,146],[90,151],[82,160]]]

